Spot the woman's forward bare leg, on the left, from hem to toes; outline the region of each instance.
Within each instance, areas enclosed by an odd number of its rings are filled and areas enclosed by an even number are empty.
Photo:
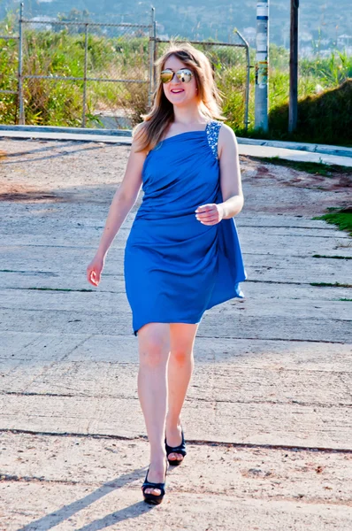
[[[149,323],[138,331],[140,366],[138,396],[150,444],[148,481],[164,482],[166,468],[165,416],[167,408],[167,360],[170,325]],[[146,489],[154,495],[160,489]]]

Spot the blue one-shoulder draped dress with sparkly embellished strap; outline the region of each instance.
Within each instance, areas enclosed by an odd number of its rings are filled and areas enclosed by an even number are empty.
[[[222,203],[221,122],[159,142],[142,169],[142,204],[126,241],[126,296],[133,330],[149,322],[199,323],[203,312],[243,297],[246,280],[234,219],[203,225],[195,209]]]

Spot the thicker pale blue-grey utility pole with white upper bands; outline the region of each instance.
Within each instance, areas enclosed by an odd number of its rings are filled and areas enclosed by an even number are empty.
[[[268,130],[269,0],[256,4],[255,127]]]

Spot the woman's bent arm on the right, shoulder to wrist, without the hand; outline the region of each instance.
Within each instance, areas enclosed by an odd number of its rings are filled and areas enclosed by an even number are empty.
[[[218,133],[218,157],[220,165],[220,186],[223,203],[223,219],[233,218],[243,207],[240,158],[238,143],[231,127],[225,124]]]

